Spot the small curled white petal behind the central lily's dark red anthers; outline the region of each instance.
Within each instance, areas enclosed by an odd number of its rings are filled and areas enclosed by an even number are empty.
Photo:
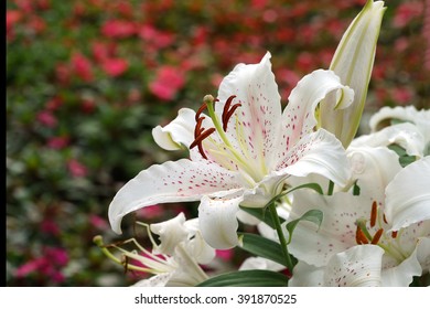
[[[195,111],[190,108],[182,108],[178,117],[169,125],[157,126],[152,129],[152,137],[155,142],[165,150],[179,150],[189,148],[194,140]]]

